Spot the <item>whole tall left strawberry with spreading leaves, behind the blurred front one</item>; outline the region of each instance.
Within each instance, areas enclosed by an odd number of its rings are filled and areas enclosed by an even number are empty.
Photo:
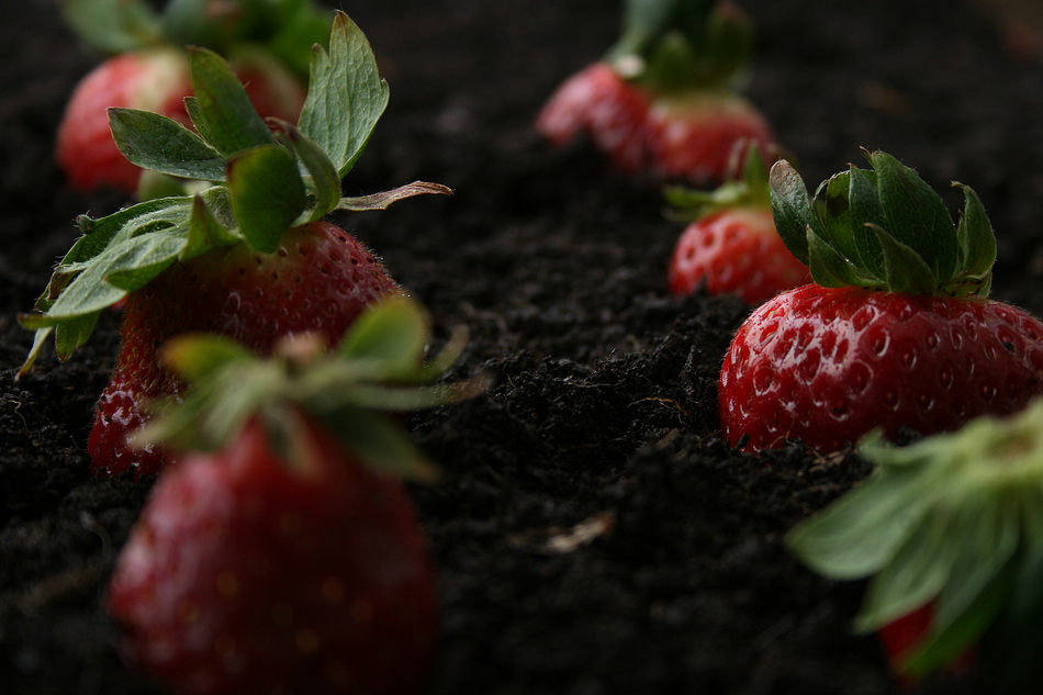
[[[98,314],[126,298],[120,355],[89,441],[101,473],[156,473],[162,466],[160,450],[125,442],[148,401],[182,388],[157,361],[158,346],[190,332],[228,335],[261,354],[304,330],[336,343],[362,309],[401,290],[355,237],[322,217],[449,192],[415,182],[341,198],[340,179],[388,102],[369,44],[343,13],[329,54],[314,49],[299,126],[262,120],[216,54],[193,51],[191,68],[197,97],[187,104],[201,135],[143,111],[112,109],[110,121],[131,161],[210,188],[100,220],[82,216],[83,236],[36,303],[42,313],[20,318],[36,329],[24,373],[52,332],[65,359],[90,336]]]

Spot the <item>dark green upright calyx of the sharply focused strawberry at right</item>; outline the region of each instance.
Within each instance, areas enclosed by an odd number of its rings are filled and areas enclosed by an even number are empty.
[[[863,150],[871,169],[851,165],[814,198],[784,159],[769,176],[775,226],[818,284],[913,294],[988,296],[996,237],[977,193],[954,224],[941,197],[913,169]]]

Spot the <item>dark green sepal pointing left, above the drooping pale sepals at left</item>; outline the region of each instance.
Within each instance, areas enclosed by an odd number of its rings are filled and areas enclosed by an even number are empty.
[[[136,109],[109,109],[112,137],[126,159],[169,176],[223,181],[227,160],[173,119]]]

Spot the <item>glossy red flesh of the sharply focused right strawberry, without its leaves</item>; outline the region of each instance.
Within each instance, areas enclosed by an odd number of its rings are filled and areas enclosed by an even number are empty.
[[[982,298],[805,285],[739,327],[720,373],[721,429],[745,450],[843,448],[879,426],[921,434],[1022,408],[1043,392],[1043,324]]]

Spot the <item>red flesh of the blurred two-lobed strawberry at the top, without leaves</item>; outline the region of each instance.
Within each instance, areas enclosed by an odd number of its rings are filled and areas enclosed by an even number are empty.
[[[775,142],[763,116],[741,97],[652,94],[604,61],[565,80],[538,114],[536,130],[554,146],[587,135],[620,173],[694,184],[721,181],[737,143],[766,152]]]

